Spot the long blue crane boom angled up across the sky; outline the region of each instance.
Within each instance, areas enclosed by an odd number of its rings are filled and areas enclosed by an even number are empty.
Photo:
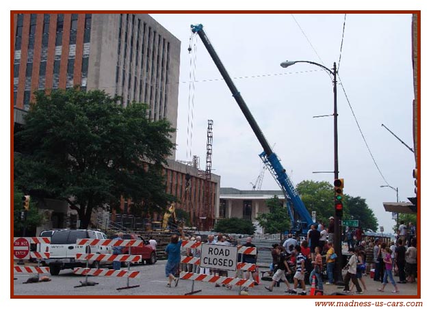
[[[272,151],[272,148],[270,147],[270,144],[268,144],[265,136],[259,128],[259,125],[257,124],[256,120],[254,120],[252,113],[250,113],[250,109],[248,109],[244,99],[242,98],[241,94],[239,94],[239,91],[235,87],[231,77],[228,75],[226,68],[224,68],[222,61],[218,57],[217,53],[215,53],[209,38],[203,30],[203,25],[191,25],[190,27],[192,28],[193,33],[198,33],[200,40],[202,40],[203,44],[205,45],[205,48],[213,59],[215,66],[217,66],[224,81],[226,81],[229,90],[231,90],[233,98],[235,98],[239,108],[241,109],[242,113],[244,113],[244,116],[246,117],[248,124],[250,124],[254,135],[256,135],[257,139],[261,143],[263,152],[259,154],[259,157],[261,157],[263,163],[265,163],[267,169],[271,172],[272,176],[285,194],[287,211],[289,212],[289,217],[292,224],[292,231],[306,234],[306,232],[309,230],[309,226],[313,223],[313,220],[311,219],[309,211],[307,211],[306,207],[304,206],[304,203],[302,202],[298,192],[291,183],[291,180],[287,176],[285,168],[283,165],[281,165],[277,155]],[[289,200],[291,201],[291,204],[293,204],[293,209],[295,209],[296,213],[298,213],[300,217],[300,220],[298,221],[295,221],[293,217],[293,213],[291,212],[291,208],[289,206]]]

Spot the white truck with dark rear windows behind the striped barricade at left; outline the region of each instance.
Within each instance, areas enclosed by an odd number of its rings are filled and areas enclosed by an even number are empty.
[[[45,252],[49,258],[44,263],[49,266],[49,272],[57,276],[62,269],[73,269],[86,265],[85,260],[76,260],[77,253],[112,254],[111,246],[77,245],[77,239],[107,239],[105,233],[98,230],[56,230],[51,236],[51,244],[46,245]],[[109,262],[107,262],[109,263]],[[94,261],[90,267],[99,268],[101,263]]]

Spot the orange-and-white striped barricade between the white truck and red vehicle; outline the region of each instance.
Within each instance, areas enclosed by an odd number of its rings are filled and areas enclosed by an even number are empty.
[[[86,246],[112,246],[112,247],[129,247],[129,254],[76,254],[75,258],[77,260],[86,260],[86,267],[76,267],[73,272],[77,275],[86,276],[86,281],[81,282],[80,286],[92,286],[94,284],[88,284],[88,276],[105,276],[105,277],[116,277],[116,278],[127,278],[127,286],[122,288],[117,288],[117,290],[122,290],[125,288],[136,288],[138,285],[130,286],[129,278],[138,278],[140,271],[131,271],[131,263],[140,263],[142,261],[142,256],[131,255],[131,247],[142,247],[144,242],[142,240],[134,239],[77,239],[77,245]],[[126,270],[114,270],[114,269],[90,269],[88,267],[89,263],[95,261],[99,262],[127,262]],[[75,286],[75,288],[80,287]]]

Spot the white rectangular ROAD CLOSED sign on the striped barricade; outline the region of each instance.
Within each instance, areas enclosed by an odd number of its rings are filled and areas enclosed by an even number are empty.
[[[203,243],[200,267],[236,271],[237,252],[236,246]]]

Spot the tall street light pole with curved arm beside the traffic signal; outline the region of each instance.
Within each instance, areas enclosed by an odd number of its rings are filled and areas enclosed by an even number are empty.
[[[334,179],[338,179],[339,177],[339,170],[338,170],[338,113],[337,113],[337,64],[334,62],[334,66],[332,70],[326,68],[326,66],[322,66],[322,64],[318,64],[317,62],[311,62],[311,61],[285,61],[280,64],[283,68],[287,68],[288,66],[292,66],[293,64],[297,63],[307,63],[307,64],[314,64],[315,66],[319,66],[320,68],[323,68],[328,72],[330,75],[332,75],[332,86],[333,86],[333,92],[334,92]],[[335,194],[335,192],[334,192]],[[334,196],[335,200],[335,196]],[[337,284],[343,284],[343,276],[342,276],[342,269],[343,269],[343,258],[342,258],[342,250],[341,250],[341,217],[337,216],[337,212],[335,211],[334,207],[334,249],[335,253],[339,258],[335,260],[335,282]]]

